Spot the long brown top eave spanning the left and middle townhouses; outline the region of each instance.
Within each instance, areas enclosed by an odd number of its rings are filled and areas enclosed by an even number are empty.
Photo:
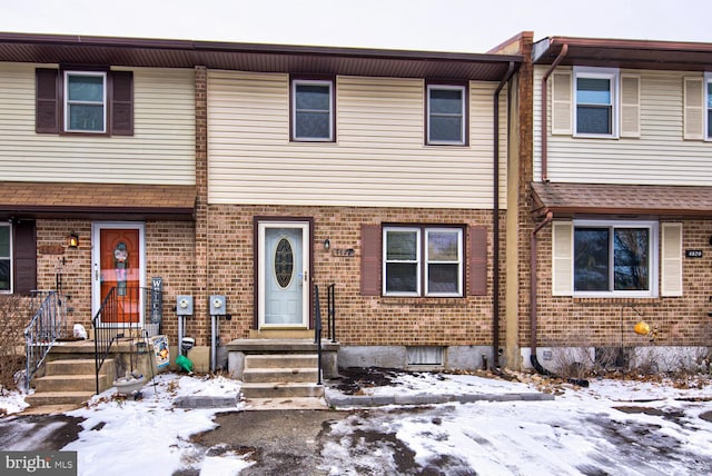
[[[0,61],[498,81],[522,57],[0,33]]]

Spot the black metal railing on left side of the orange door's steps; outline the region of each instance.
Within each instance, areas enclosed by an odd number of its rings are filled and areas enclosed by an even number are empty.
[[[44,363],[47,354],[61,337],[66,316],[63,296],[57,291],[31,291],[30,306],[33,315],[24,328],[27,390],[30,389],[30,381]]]

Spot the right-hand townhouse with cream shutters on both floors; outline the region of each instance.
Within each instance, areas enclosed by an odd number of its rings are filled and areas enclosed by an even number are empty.
[[[566,347],[693,366],[712,328],[712,46],[551,37],[532,61],[524,364]]]

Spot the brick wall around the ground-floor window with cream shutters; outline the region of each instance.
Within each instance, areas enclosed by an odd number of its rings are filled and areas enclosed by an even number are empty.
[[[655,345],[709,346],[712,344],[712,221],[683,225],[684,249],[702,249],[702,258],[683,258],[683,296],[647,299],[574,298],[552,296],[551,226],[538,237],[537,343],[541,346],[645,346],[633,326],[641,319],[657,328]],[[523,323],[528,324],[528,323]],[[522,345],[528,345],[530,327],[522,326]]]

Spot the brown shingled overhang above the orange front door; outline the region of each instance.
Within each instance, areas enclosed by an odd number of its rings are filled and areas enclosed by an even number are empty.
[[[192,220],[195,186],[0,182],[0,218]]]

